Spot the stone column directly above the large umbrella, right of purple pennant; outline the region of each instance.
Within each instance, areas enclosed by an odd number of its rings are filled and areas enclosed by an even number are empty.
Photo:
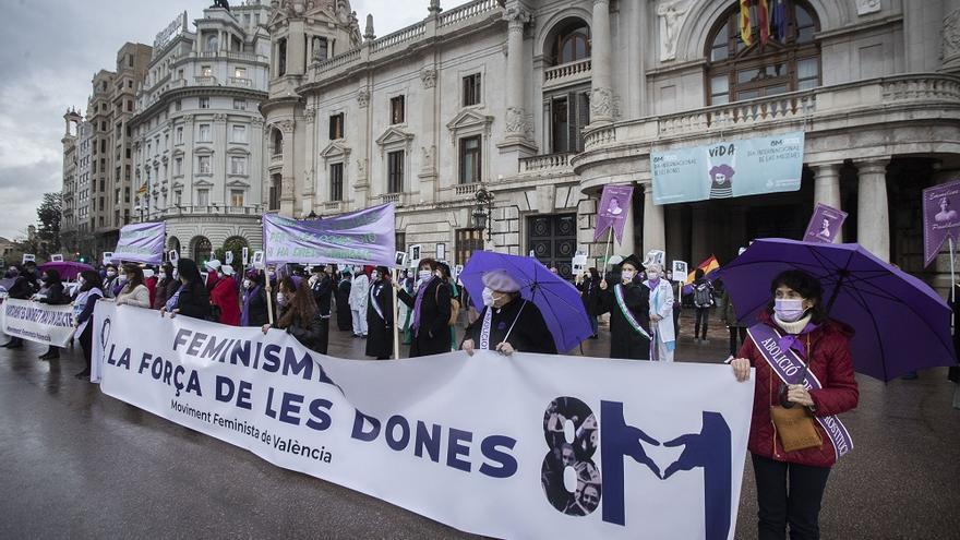
[[[884,261],[890,261],[890,211],[887,205],[887,164],[875,159],[856,164],[856,241]]]

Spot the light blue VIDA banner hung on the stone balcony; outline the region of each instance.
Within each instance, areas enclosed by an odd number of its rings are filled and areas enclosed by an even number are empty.
[[[804,134],[719,142],[650,153],[653,204],[800,189]]]

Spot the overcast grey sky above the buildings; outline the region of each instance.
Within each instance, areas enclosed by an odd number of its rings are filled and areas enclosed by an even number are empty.
[[[266,0],[264,0],[266,1]],[[0,237],[36,223],[45,192],[62,188],[63,113],[86,112],[91,80],[116,68],[125,41],[152,45],[178,13],[202,15],[207,0],[4,0],[0,25]],[[231,3],[239,3],[233,0]],[[428,0],[352,0],[362,32],[377,35],[427,15]],[[401,4],[406,9],[398,9]],[[446,5],[460,1],[443,2]],[[191,25],[192,26],[192,25]]]

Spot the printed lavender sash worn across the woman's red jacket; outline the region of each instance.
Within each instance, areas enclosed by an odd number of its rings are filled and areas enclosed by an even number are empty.
[[[780,348],[779,343],[782,336],[775,328],[761,323],[749,327],[746,332],[756,344],[757,350],[764,356],[764,360],[770,364],[773,373],[777,373],[777,376],[785,384],[803,384],[807,391],[824,387],[817,376],[807,370],[806,364],[796,352],[792,349],[783,350]],[[799,375],[803,376],[803,380],[797,383],[795,381]],[[814,418],[824,428],[830,442],[833,443],[833,453],[837,455],[837,459],[853,449],[853,439],[850,437],[850,432],[847,431],[847,427],[839,418],[836,416]]]

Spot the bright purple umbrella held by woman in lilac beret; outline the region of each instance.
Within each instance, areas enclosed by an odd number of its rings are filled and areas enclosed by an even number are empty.
[[[532,302],[543,314],[556,350],[566,352],[593,334],[576,287],[536,259],[492,251],[473,252],[460,273],[460,283],[470,298],[483,298],[483,273],[492,269],[506,272],[519,284],[520,297]],[[483,308],[476,303],[475,307],[478,311]]]

